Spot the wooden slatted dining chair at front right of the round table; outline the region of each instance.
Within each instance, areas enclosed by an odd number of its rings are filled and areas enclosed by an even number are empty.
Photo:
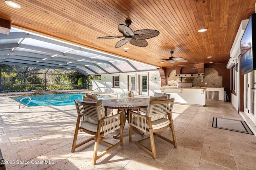
[[[150,97],[153,98],[153,97]],[[177,148],[176,136],[172,119],[172,108],[174,98],[168,100],[150,100],[146,115],[141,115],[133,111],[129,111],[129,142],[133,142],[142,149],[146,150],[156,159],[156,147],[154,138],[160,137]],[[136,141],[132,139],[132,127],[136,127],[141,131],[148,133],[150,137]],[[157,134],[156,132],[163,131],[170,127],[172,132],[172,140]],[[142,145],[143,142],[150,140],[151,149]]]

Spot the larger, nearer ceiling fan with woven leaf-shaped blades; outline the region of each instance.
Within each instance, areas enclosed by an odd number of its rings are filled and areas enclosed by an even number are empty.
[[[111,39],[111,38],[124,37],[124,39],[116,43],[116,48],[121,47],[122,45],[128,43],[128,41],[130,41],[132,45],[136,45],[138,47],[146,47],[148,45],[148,42],[146,41],[146,39],[153,38],[159,35],[159,31],[154,29],[141,29],[137,31],[132,31],[132,29],[130,29],[129,27],[132,24],[132,21],[129,19],[125,21],[125,24],[126,25],[124,24],[118,25],[118,30],[123,35],[98,37],[97,39]]]

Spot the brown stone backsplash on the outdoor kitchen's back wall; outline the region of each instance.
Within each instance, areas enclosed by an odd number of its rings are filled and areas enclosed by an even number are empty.
[[[175,74],[176,70],[172,70],[169,77],[166,78],[166,84],[168,86],[177,86],[178,82],[180,82]],[[200,87],[215,87],[214,83],[217,83],[217,87],[222,87],[222,76],[218,76],[218,72],[214,68],[206,67],[204,68],[203,82],[201,82],[200,77],[182,77],[182,82],[192,82],[193,86]]]

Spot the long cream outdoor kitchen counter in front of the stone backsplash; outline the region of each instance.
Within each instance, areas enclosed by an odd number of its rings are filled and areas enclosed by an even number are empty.
[[[204,87],[177,88],[177,86],[163,86],[160,87],[160,90],[162,93],[171,94],[170,98],[174,98],[176,104],[205,105],[206,88]]]

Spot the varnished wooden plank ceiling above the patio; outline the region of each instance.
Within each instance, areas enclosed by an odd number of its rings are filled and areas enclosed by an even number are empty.
[[[86,47],[154,66],[225,63],[242,20],[255,12],[254,0],[14,0],[20,9],[0,2],[0,18],[12,25],[78,43]],[[122,35],[119,24],[132,20],[130,28],[156,29],[147,47],[129,42],[115,48]],[[204,33],[198,30],[207,28]],[[124,47],[128,47],[126,50]],[[183,57],[188,62],[160,59]],[[212,58],[207,58],[212,56]]]

